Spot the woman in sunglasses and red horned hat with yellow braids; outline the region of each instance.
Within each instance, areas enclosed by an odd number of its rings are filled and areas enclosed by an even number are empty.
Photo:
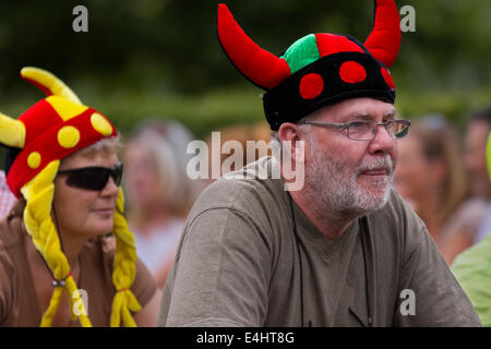
[[[0,221],[0,326],[153,326],[159,291],[137,260],[119,186],[113,125],[49,72],[23,79],[48,97],[0,113],[7,183]]]

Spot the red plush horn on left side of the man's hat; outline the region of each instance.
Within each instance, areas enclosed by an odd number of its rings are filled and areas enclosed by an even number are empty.
[[[286,60],[252,41],[224,3],[218,4],[217,32],[220,45],[230,61],[259,87],[274,88],[290,75]]]

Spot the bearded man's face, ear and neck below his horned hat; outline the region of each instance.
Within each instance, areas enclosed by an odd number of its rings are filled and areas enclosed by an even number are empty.
[[[385,132],[379,132],[375,125],[380,122],[376,120],[380,112],[383,122],[390,122]],[[358,120],[360,118],[362,120]],[[397,156],[396,134],[403,132],[400,137],[408,131],[406,120],[394,118],[395,109],[391,104],[372,98],[352,98],[323,107],[299,124],[284,123],[279,128],[279,136],[274,135],[288,141],[288,144],[295,144],[296,137],[304,139],[308,144],[304,189],[290,191],[290,194],[297,204],[308,207],[313,221],[320,220],[326,237],[337,238],[352,219],[383,207],[388,201]],[[349,135],[338,130],[334,130],[338,134],[332,134],[333,120],[356,124],[350,124]],[[403,123],[398,127],[394,125],[395,122]],[[338,124],[334,123],[334,127]],[[313,127],[327,130],[313,130]],[[332,152],[333,148],[337,151]]]

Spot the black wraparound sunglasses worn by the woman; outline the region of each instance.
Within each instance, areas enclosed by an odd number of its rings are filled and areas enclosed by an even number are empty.
[[[101,191],[106,188],[109,176],[112,177],[116,185],[121,184],[122,163],[113,167],[82,167],[58,171],[58,174],[68,174],[67,185],[86,190]]]

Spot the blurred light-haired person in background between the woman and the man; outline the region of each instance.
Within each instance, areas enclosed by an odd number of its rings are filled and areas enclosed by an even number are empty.
[[[147,121],[127,142],[128,220],[136,251],[161,288],[173,262],[184,219],[201,192],[185,172],[191,132],[177,121]]]

